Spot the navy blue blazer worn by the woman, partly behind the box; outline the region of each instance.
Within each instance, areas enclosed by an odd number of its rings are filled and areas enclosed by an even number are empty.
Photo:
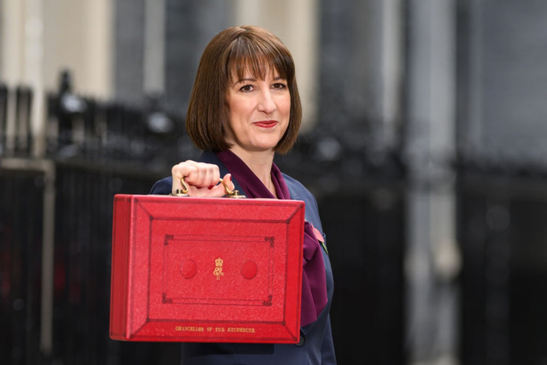
[[[212,152],[203,152],[200,162],[219,167],[220,176],[228,169]],[[290,198],[304,200],[305,217],[314,227],[323,232],[317,201],[300,182],[283,174],[289,188]],[[150,194],[171,193],[172,177],[156,182]],[[235,188],[243,192],[241,186],[232,179]],[[323,237],[326,237],[323,233]],[[325,246],[326,247],[326,246]],[[235,343],[183,343],[181,365],[333,365],[336,364],[333,337],[330,329],[330,304],[333,299],[333,272],[327,252],[322,250],[327,274],[328,302],[315,322],[300,328],[300,343],[293,344],[235,344]]]

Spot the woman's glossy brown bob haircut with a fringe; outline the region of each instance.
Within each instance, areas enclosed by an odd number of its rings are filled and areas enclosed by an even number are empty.
[[[218,152],[231,146],[225,140],[224,124],[229,118],[226,95],[229,85],[248,70],[263,80],[277,71],[287,80],[290,92],[290,119],[287,131],[275,151],[287,153],[296,141],[302,120],[302,106],[296,86],[293,57],[271,32],[257,26],[235,26],[218,33],[207,44],[197,68],[186,118],[186,130],[194,144]]]

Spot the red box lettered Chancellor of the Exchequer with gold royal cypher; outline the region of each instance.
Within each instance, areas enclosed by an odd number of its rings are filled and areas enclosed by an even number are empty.
[[[110,338],[297,343],[304,209],[115,195]]]

